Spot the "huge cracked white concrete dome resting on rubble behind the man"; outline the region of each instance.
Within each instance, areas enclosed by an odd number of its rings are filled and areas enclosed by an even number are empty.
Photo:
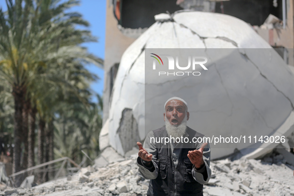
[[[188,126],[209,137],[243,137],[244,133],[246,138],[287,137],[293,132],[294,76],[250,25],[229,15],[209,12],[184,11],[170,17],[158,15],[157,21],[124,52],[110,98],[109,117],[100,134],[101,149],[109,142],[121,155],[131,150],[148,133],[145,123],[152,124],[153,129],[164,125],[163,104],[174,96],[189,104]],[[198,83],[181,89],[182,92],[193,88],[197,94],[182,96],[183,93],[170,90],[170,87],[177,89],[177,81],[166,79],[167,83],[160,86],[155,82],[145,84],[146,48],[229,48],[234,53],[220,56],[225,61],[209,64]],[[253,49],[270,52],[256,53]],[[228,63],[229,60],[238,62],[238,66]],[[180,79],[189,84],[191,77]],[[154,86],[152,95],[145,95],[145,85]],[[145,119],[145,112],[149,113],[149,107],[145,107],[147,101],[153,103],[154,114],[148,120]],[[258,156],[278,144],[225,143],[211,149],[211,158],[224,157],[236,150],[245,152],[248,148],[254,148],[250,153]]]

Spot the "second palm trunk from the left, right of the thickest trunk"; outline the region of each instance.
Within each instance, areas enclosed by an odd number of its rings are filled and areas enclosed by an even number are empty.
[[[35,128],[36,128],[37,108],[34,106],[29,109],[29,128],[28,128],[28,168],[35,166]]]

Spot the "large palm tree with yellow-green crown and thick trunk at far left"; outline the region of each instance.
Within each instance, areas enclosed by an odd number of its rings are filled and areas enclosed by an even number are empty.
[[[35,116],[37,112],[41,117],[45,113],[42,110],[44,107],[40,106],[44,102],[40,101],[42,96],[38,98],[40,93],[36,86],[61,84],[63,80],[62,85],[71,88],[71,84],[60,78],[65,75],[58,74],[68,69],[68,63],[77,59],[80,62],[102,63],[101,59],[79,46],[96,39],[89,31],[75,29],[76,24],[89,25],[80,14],[65,13],[76,3],[76,0],[63,3],[60,0],[15,0],[15,3],[7,0],[7,14],[0,9],[0,81],[8,82],[14,98],[13,172],[20,170],[21,133],[29,133],[30,143],[25,152],[28,153],[28,165],[34,164]],[[73,92],[79,97],[78,89]],[[44,127],[43,120],[41,118],[39,122],[40,130]],[[43,141],[39,143],[42,145]]]

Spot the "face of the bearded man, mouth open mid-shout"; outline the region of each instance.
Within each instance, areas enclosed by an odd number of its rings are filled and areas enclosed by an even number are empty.
[[[184,120],[186,113],[187,120],[189,120],[189,112],[187,112],[185,103],[177,99],[170,100],[165,106],[164,121],[167,118],[171,125],[179,126]]]

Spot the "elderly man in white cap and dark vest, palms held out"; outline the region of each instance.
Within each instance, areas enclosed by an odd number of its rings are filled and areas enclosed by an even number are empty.
[[[166,125],[147,134],[144,148],[137,142],[139,172],[151,179],[147,196],[203,196],[203,184],[211,175],[209,144],[197,143],[204,135],[187,126],[190,114],[184,99],[170,98],[164,109]],[[165,137],[186,140],[155,142]]]

